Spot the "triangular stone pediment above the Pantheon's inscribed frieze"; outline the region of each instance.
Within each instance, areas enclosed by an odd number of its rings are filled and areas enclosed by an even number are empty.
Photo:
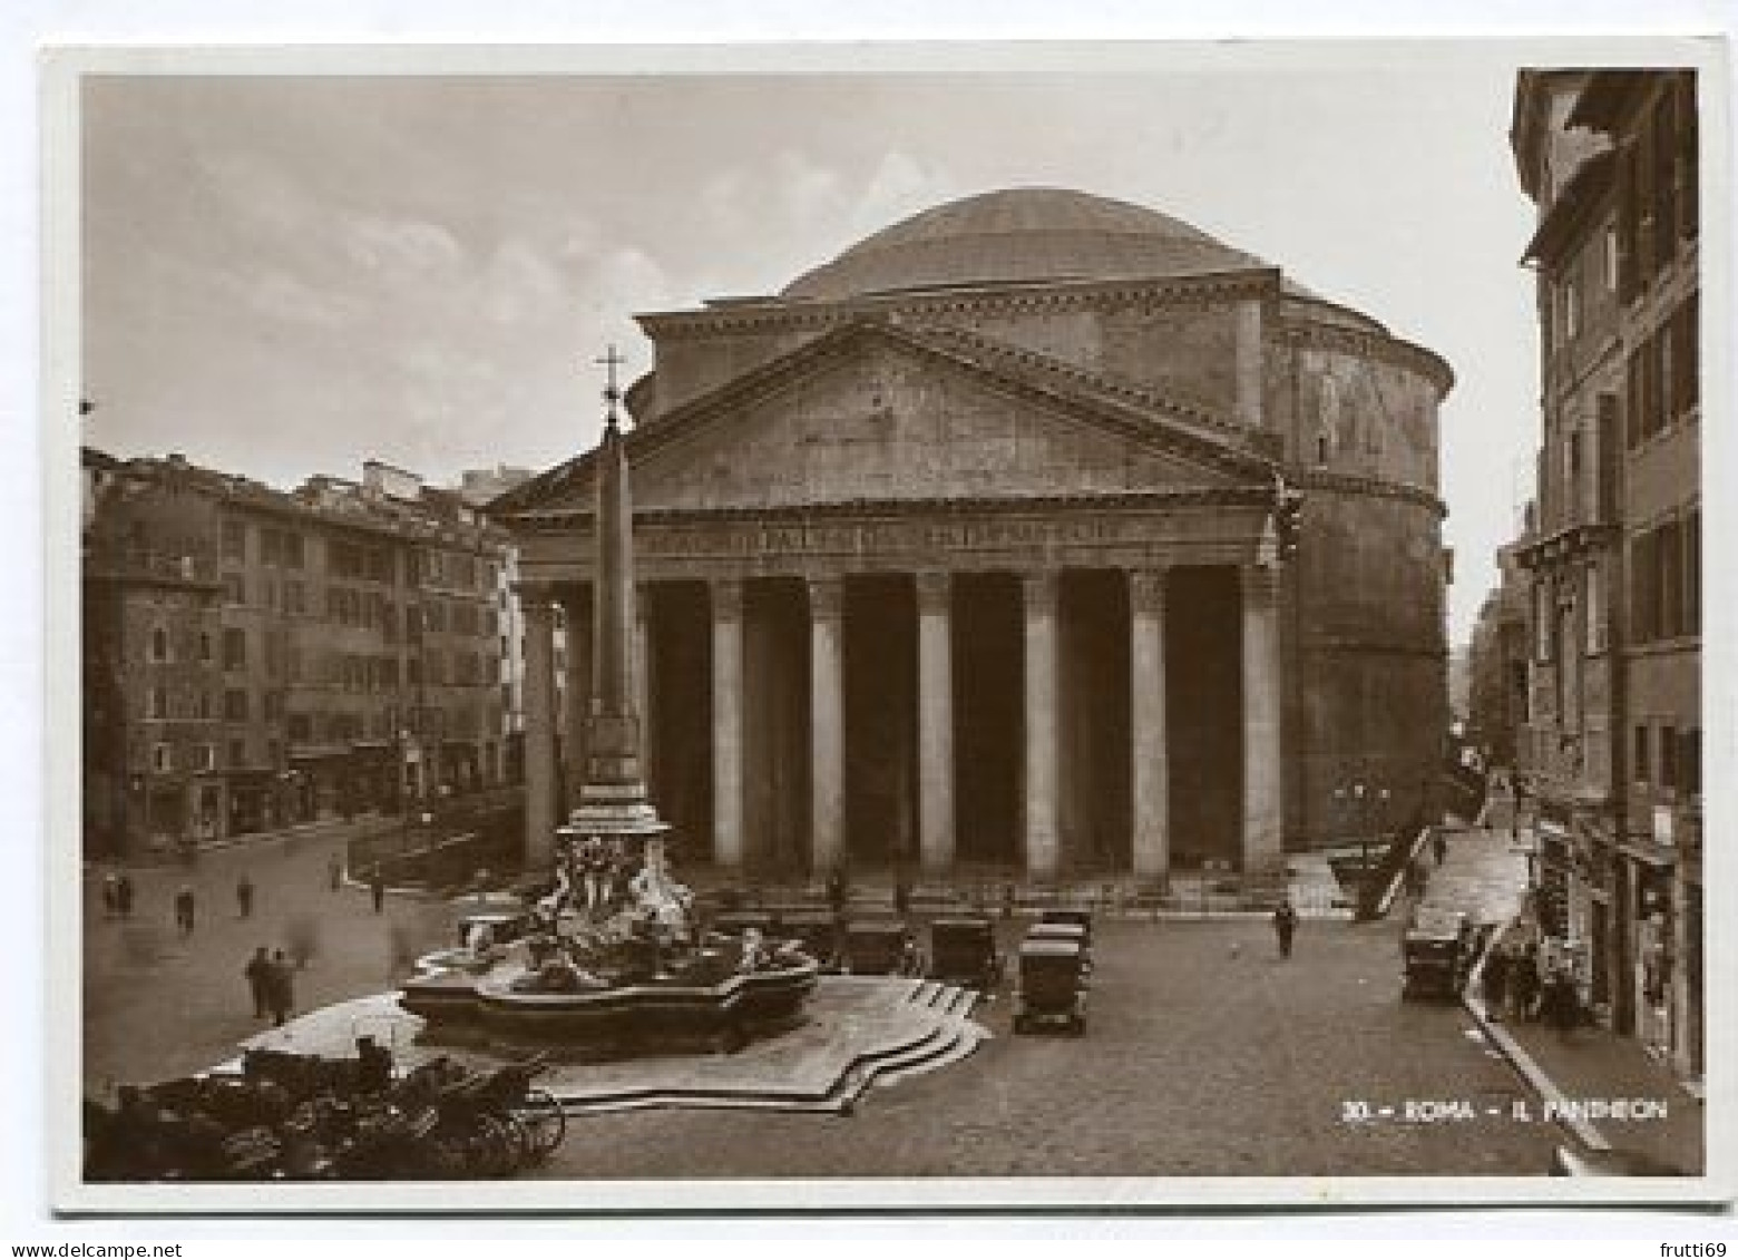
[[[1265,461],[1196,419],[987,349],[872,323],[829,334],[638,429],[634,507],[1124,495],[1270,478]],[[580,461],[551,474],[514,507],[586,509],[586,473]]]

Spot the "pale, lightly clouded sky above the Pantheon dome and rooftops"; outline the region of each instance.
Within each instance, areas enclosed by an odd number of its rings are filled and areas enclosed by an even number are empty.
[[[294,485],[452,481],[598,434],[633,315],[770,294],[930,205],[1138,202],[1443,355],[1451,638],[1538,441],[1517,63],[1213,70],[103,75],[82,97],[82,440]]]

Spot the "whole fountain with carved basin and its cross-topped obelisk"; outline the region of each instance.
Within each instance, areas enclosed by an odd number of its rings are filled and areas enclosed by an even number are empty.
[[[647,794],[634,713],[633,507],[614,348],[594,455],[593,695],[579,806],[556,829],[554,886],[528,930],[476,919],[462,947],[422,959],[400,1005],[426,1041],[535,1044],[579,1057],[733,1050],[787,1029],[819,965],[793,942],[700,933],[669,865],[669,824]],[[495,916],[499,925],[499,916]],[[520,925],[513,925],[518,928]]]

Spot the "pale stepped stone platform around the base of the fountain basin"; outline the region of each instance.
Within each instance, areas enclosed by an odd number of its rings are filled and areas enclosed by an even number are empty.
[[[507,1057],[473,1046],[417,1039],[424,1020],[398,1006],[396,992],[311,1011],[242,1043],[344,1058],[358,1036],[393,1048],[400,1069],[438,1055],[487,1071]],[[883,1071],[900,1078],[956,1062],[985,1036],[951,987],[900,977],[820,977],[805,1022],[732,1055],[671,1053],[593,1064],[553,1064],[539,1078],[574,1109],[645,1105],[812,1105],[839,1109]],[[240,1060],[219,1065],[233,1069]]]

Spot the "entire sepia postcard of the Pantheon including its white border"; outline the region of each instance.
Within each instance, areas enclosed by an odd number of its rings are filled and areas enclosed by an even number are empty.
[[[1728,1197],[1729,94],[50,56],[56,1206]]]

